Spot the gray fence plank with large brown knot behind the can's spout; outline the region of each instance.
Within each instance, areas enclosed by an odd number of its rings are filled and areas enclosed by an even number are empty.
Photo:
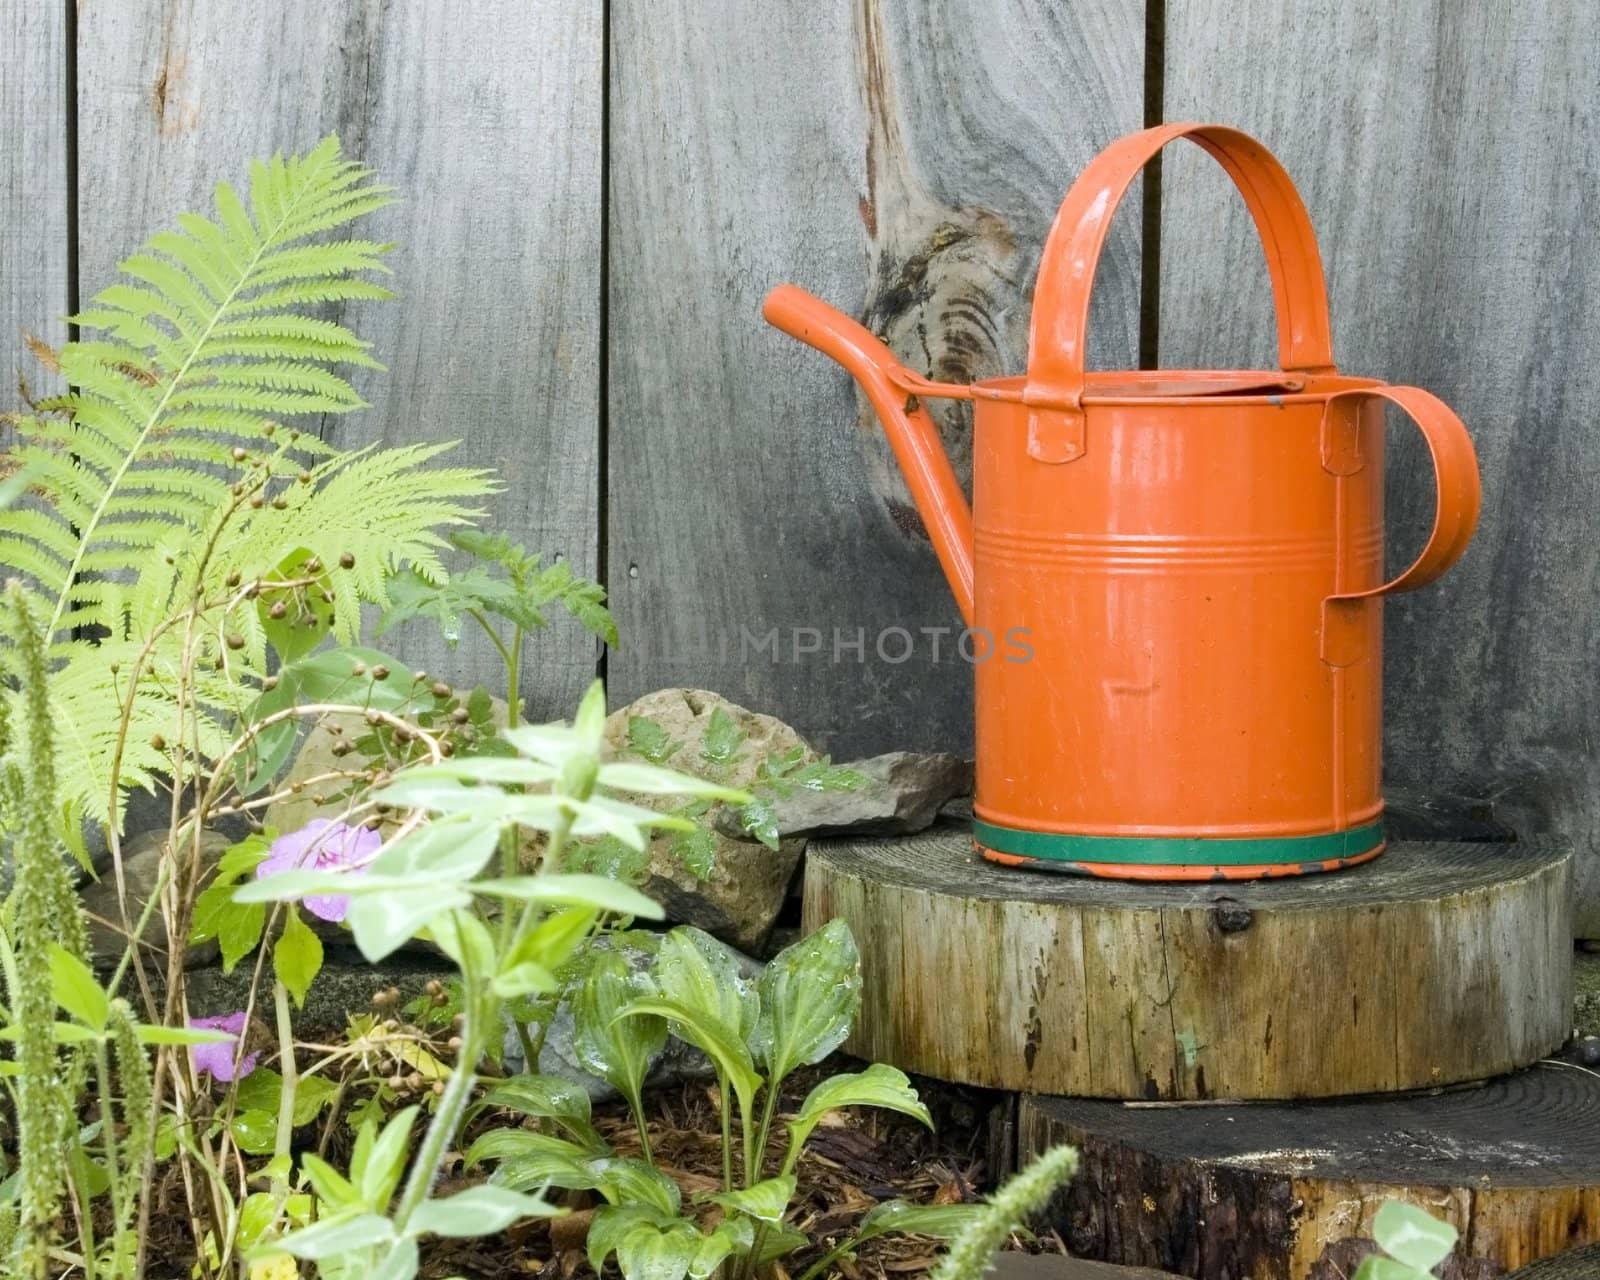
[[[1139,125],[1142,11],[658,0],[611,22],[613,701],[702,685],[835,752],[970,750],[960,618],[882,432],[760,302],[794,280],[925,373],[1021,371],[1056,206]],[[1109,363],[1138,344],[1131,205],[1096,299]],[[936,413],[965,470],[970,413]]]

